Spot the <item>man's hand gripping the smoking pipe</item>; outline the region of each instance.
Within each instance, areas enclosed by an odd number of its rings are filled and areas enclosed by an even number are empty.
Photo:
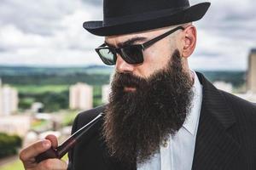
[[[58,140],[54,135],[48,135],[44,140],[38,141],[20,151],[20,160],[26,170],[67,170],[67,163],[59,159],[48,159],[37,163],[35,157],[48,150],[56,148]]]

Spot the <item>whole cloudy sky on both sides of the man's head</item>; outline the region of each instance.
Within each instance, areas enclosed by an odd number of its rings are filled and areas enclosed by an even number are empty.
[[[256,48],[256,1],[210,2],[206,16],[195,22],[198,42],[190,66],[246,70]],[[94,48],[103,38],[84,31],[85,20],[102,20],[102,0],[0,0],[0,65],[102,65]]]

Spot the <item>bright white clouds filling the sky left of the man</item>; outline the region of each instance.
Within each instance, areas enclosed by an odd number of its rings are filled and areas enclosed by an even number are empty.
[[[59,7],[61,2],[63,4]],[[40,1],[38,6],[41,6],[41,12],[36,8],[25,8],[27,3],[3,2],[5,12],[1,12],[0,18],[6,18],[6,20],[2,21],[0,27],[0,64],[88,65],[100,63],[95,59],[96,54],[93,48],[96,47],[95,44],[102,43],[102,38],[88,34],[82,26],[84,20],[102,18],[100,8],[82,1],[70,2],[72,1]],[[28,10],[26,14],[15,18],[14,11],[22,13],[26,10]],[[50,17],[51,15],[53,17]],[[16,20],[20,20],[20,17],[27,19],[24,23],[30,23],[33,26],[27,27],[26,24],[17,22]],[[93,58],[90,59],[88,55]]]

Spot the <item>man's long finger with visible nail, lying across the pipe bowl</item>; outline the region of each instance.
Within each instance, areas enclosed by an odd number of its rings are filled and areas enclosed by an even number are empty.
[[[35,156],[48,150],[51,147],[51,142],[48,139],[38,141],[25,149],[20,151],[20,160],[21,161],[31,161]]]

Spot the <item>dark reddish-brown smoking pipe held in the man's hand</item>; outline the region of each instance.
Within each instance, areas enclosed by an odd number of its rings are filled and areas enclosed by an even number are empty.
[[[44,151],[43,153],[36,156],[36,161],[39,163],[40,161],[44,161],[49,158],[58,158],[61,159],[62,156],[67,154],[68,150],[71,150],[75,144],[79,143],[84,135],[89,131],[90,127],[93,127],[96,122],[100,120],[103,116],[103,113],[96,116],[92,121],[81,127],[77,132],[73,133],[67,140],[65,140],[61,145],[57,148],[49,148],[49,150]]]

